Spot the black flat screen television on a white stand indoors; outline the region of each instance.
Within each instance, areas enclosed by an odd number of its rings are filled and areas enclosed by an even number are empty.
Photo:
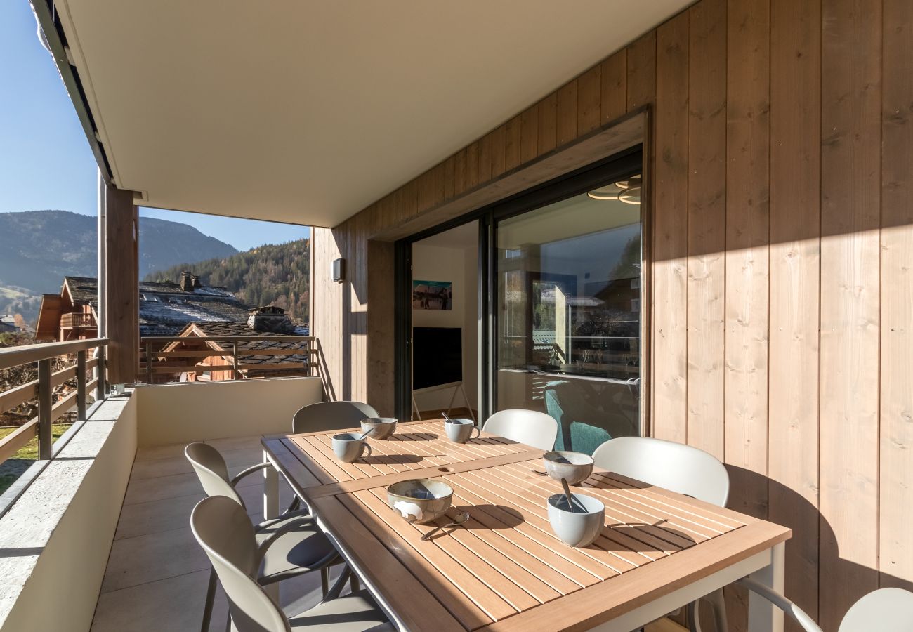
[[[459,327],[413,327],[412,387],[463,381],[463,330]]]

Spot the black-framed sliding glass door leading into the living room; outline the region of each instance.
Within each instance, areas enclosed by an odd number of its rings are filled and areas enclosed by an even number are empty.
[[[467,317],[464,332],[477,325],[481,419],[539,410],[559,423],[556,449],[582,452],[642,434],[641,161],[639,151],[626,153],[400,243],[399,416],[413,408],[414,320],[428,317],[411,302],[412,247],[452,265],[448,236],[468,235],[477,220],[478,320]],[[445,272],[453,270],[435,273]]]

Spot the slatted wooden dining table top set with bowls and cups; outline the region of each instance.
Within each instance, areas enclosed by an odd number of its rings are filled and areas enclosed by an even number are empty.
[[[782,589],[791,532],[772,522],[596,468],[574,492],[602,500],[605,526],[574,548],[551,531],[547,499],[561,483],[540,473],[541,449],[486,432],[456,444],[436,419],[400,423],[368,439],[371,456],[342,463],[338,432],[262,442],[401,629],[633,629],[746,574]],[[386,488],[427,478],[454,490],[452,506],[428,524],[405,521]],[[422,540],[463,511],[466,522]],[[751,623],[782,628],[769,609]]]

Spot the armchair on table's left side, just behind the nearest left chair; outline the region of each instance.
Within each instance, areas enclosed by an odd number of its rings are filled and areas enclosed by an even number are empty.
[[[219,451],[206,443],[192,443],[184,448],[184,456],[194,468],[206,495],[226,498],[234,502],[247,516],[244,500],[236,490],[237,482],[260,469],[271,467],[269,462],[258,463],[239,473],[234,479],[228,478],[225,458]],[[247,523],[250,519],[247,518]],[[326,594],[330,581],[330,566],[341,562],[339,553],[323,532],[320,532],[313,518],[304,511],[287,511],[278,518],[251,525],[257,542],[270,542],[265,551],[257,581],[261,585],[275,584],[299,574],[320,571],[323,591]],[[209,585],[203,610],[202,630],[209,629],[215,601],[215,567],[209,574]]]

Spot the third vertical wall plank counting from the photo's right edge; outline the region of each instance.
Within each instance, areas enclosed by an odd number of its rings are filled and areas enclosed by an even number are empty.
[[[771,0],[768,517],[786,594],[818,614],[821,6]],[[796,627],[792,627],[796,629]]]

